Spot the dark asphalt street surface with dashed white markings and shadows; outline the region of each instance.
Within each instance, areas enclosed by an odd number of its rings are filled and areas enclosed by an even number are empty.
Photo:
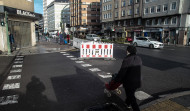
[[[114,44],[116,60],[78,60],[79,51],[17,56],[1,85],[3,111],[83,111],[115,102],[122,108],[124,92],[108,98],[104,83],[117,73],[126,55],[124,44]],[[188,47],[149,49],[137,47],[143,60],[143,86],[136,92],[141,105],[190,89]]]

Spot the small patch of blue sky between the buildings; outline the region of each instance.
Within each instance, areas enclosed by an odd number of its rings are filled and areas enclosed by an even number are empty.
[[[34,12],[43,14],[43,0],[34,0]]]

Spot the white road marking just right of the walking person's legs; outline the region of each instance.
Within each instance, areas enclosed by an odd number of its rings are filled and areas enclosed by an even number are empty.
[[[136,91],[135,92],[135,97],[138,99],[138,100],[145,100],[145,99],[148,99],[148,98],[151,98],[152,96],[143,92],[143,91]]]

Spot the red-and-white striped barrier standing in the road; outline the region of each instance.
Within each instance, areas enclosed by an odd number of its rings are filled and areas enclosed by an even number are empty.
[[[113,43],[82,42],[80,58],[113,58]]]

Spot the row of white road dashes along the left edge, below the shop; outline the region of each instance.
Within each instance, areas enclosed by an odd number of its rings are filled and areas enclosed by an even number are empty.
[[[1,92],[9,90],[14,91],[20,88],[23,61],[24,61],[24,56],[22,55],[16,56],[14,64],[8,74],[8,77],[5,80],[4,84],[2,85]],[[18,103],[18,99],[19,99],[19,94],[16,93],[13,95],[2,95],[0,97],[0,106],[8,104],[16,104]]]

